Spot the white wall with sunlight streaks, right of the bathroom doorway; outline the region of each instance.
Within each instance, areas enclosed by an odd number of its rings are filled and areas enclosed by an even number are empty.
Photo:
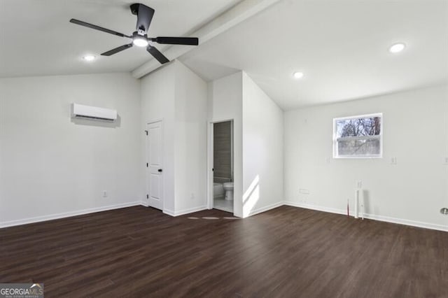
[[[243,73],[243,215],[283,204],[283,111]]]

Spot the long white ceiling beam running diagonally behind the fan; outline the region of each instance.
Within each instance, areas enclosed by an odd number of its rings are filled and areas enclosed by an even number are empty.
[[[216,19],[205,24],[203,27],[193,32],[191,36],[199,38],[199,44],[206,43],[211,38],[218,36],[219,34],[227,31],[228,29],[234,27],[235,25],[247,20],[249,17],[260,13],[260,11],[265,10],[272,4],[279,2],[280,0],[244,0],[238,3],[236,6],[230,8],[225,13],[216,17]],[[193,50],[194,47],[183,47],[183,46],[172,46],[165,50],[163,54],[170,60],[174,60],[181,55]],[[155,71],[162,64],[160,64],[156,59],[151,59],[148,62],[142,64],[132,71],[132,76],[134,78],[141,78],[151,71]]]

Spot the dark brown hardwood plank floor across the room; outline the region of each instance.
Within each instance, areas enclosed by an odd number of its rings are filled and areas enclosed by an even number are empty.
[[[289,206],[228,216],[136,206],[0,229],[0,283],[45,283],[45,297],[448,297],[447,232]]]

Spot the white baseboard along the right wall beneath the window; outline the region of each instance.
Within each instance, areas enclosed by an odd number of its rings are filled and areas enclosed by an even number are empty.
[[[307,209],[316,210],[316,211],[324,211],[324,212],[329,212],[329,213],[337,213],[337,214],[342,214],[342,215],[347,214],[346,213],[347,211],[343,210],[343,209],[316,206],[316,205],[311,205],[311,204],[302,204],[302,203],[297,203],[295,201],[284,201],[284,205],[294,206],[294,207],[299,207],[299,208],[307,208]],[[374,215],[374,214],[365,214],[364,218],[367,218],[370,220],[379,220],[381,222],[391,222],[391,223],[395,223],[395,224],[399,224],[399,225],[409,225],[411,227],[423,227],[425,229],[436,229],[437,231],[448,232],[447,226],[437,225],[437,224],[433,224],[430,222],[419,222],[416,220],[406,220],[406,219],[402,219],[402,218],[391,218],[388,216]]]

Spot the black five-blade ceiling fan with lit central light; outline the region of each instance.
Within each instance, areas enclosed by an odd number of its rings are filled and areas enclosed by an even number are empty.
[[[126,50],[128,48],[132,48],[132,45],[137,45],[138,47],[146,47],[146,50],[153,55],[155,59],[158,60],[161,64],[165,64],[169,62],[169,59],[165,57],[157,48],[151,45],[149,42],[161,43],[161,44],[169,44],[169,45],[198,45],[199,40],[197,37],[171,37],[171,36],[159,36],[159,37],[148,37],[148,28],[151,24],[151,20],[153,20],[153,15],[155,10],[153,8],[148,7],[144,4],[134,3],[131,5],[131,12],[133,15],[137,15],[137,31],[134,31],[132,35],[126,35],[117,31],[113,31],[110,29],[106,29],[103,27],[99,27],[94,24],[89,24],[87,22],[83,22],[76,19],[71,19],[70,22],[73,24],[78,24],[84,27],[96,29],[99,31],[103,31],[109,34],[113,34],[120,37],[132,38],[132,43],[128,43],[126,45],[121,45],[118,48],[114,48],[112,50],[108,50],[107,52],[102,53],[103,56],[111,56],[122,50]]]

